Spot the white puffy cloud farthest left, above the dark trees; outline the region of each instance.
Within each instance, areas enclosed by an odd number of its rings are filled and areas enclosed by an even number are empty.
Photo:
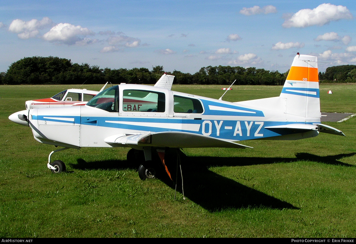
[[[52,24],[52,20],[48,17],[43,17],[42,20],[32,19],[27,22],[16,19],[11,22],[9,31],[17,33],[20,39],[28,39],[36,37],[40,33],[38,30],[51,26]]]

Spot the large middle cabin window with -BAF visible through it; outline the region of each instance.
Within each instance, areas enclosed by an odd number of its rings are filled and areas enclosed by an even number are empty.
[[[122,110],[126,112],[164,112],[166,96],[162,92],[124,90]]]

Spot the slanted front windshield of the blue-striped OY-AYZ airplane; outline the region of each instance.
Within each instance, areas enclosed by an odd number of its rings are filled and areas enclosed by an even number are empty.
[[[100,92],[87,105],[108,112],[117,112],[119,108],[119,86],[113,86]]]

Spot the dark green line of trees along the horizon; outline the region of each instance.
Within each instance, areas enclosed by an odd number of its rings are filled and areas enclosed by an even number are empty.
[[[1,85],[26,84],[155,84],[164,72],[163,66],[148,68],[100,68],[88,63],[72,63],[59,57],[25,57],[12,63],[7,72],[0,73]],[[174,84],[229,85],[236,80],[236,85],[283,85],[288,72],[268,71],[263,68],[240,66],[202,67],[194,74],[177,70],[167,72],[176,76]],[[356,82],[356,66],[342,65],[319,72],[324,82]]]

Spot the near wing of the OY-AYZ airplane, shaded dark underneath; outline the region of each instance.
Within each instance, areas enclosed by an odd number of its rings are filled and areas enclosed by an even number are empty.
[[[146,132],[140,134],[116,134],[104,139],[108,144],[138,145],[150,147],[225,147],[252,148],[239,143],[188,132]]]

